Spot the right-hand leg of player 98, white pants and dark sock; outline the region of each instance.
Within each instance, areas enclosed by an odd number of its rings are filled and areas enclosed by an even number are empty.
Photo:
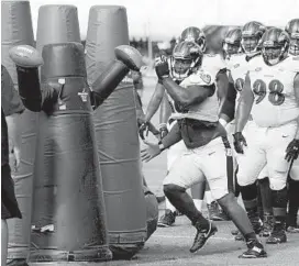
[[[267,244],[278,244],[287,241],[287,177],[290,163],[285,159],[285,152],[292,141],[297,130],[297,123],[289,123],[279,128],[269,129],[267,132],[267,168],[272,189],[274,228]]]

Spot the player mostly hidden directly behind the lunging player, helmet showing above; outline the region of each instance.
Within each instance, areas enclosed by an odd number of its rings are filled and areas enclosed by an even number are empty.
[[[198,27],[187,27],[186,30],[182,31],[179,41],[193,41],[196,42],[201,51],[206,49],[206,36],[201,30]],[[171,63],[169,63],[171,64]],[[209,69],[209,73],[211,74],[211,79],[218,80],[218,87],[222,88],[225,87],[228,84],[228,77],[225,73],[221,73],[221,69],[225,68],[223,59],[219,55],[212,56],[212,55],[204,55],[202,59],[202,67]],[[184,78],[184,75],[177,75],[175,71],[171,71],[173,78],[177,81],[180,82],[181,79]],[[224,89],[223,89],[224,90]],[[171,112],[175,111],[175,108],[173,103],[169,106],[169,97],[167,93],[165,93],[165,90],[160,84],[156,85],[155,92],[148,103],[146,114],[145,114],[145,121],[144,124],[141,126],[141,135],[143,135],[143,132],[147,128],[147,122],[152,119],[154,113],[157,111],[158,107],[160,104],[160,125],[159,125],[159,131],[160,131],[160,137],[164,137],[167,132],[176,124],[176,120],[170,119],[169,115]],[[170,109],[170,112],[169,112]],[[184,152],[186,151],[186,145],[184,142],[178,142],[176,145],[171,146],[167,151],[167,170],[170,169],[173,163],[176,160],[177,157],[179,157]],[[192,192],[197,192],[195,203],[199,210],[201,210],[201,203],[202,203],[202,198],[203,198],[203,191],[204,191],[204,182],[198,184],[193,186]],[[202,190],[200,195],[200,190]],[[209,193],[207,193],[209,195]],[[209,195],[210,196],[210,195]],[[200,199],[201,198],[201,199]],[[207,197],[208,198],[208,197]],[[209,197],[211,198],[211,197]],[[212,200],[210,200],[212,201]],[[212,206],[212,204],[211,204]],[[218,210],[218,204],[213,204],[215,210]],[[171,206],[171,203],[166,199],[166,210],[165,214],[160,218],[158,225],[159,226],[169,226],[175,222],[175,208]],[[217,212],[210,213],[211,218],[215,218]],[[218,217],[219,217],[218,215]]]

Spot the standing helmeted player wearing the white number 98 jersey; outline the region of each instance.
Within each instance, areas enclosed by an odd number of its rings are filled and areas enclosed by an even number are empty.
[[[287,241],[287,176],[290,162],[299,152],[299,66],[288,57],[288,33],[272,27],[262,38],[262,58],[248,65],[236,111],[234,146],[240,156],[237,181],[245,208],[257,217],[255,181],[267,165],[275,224],[266,243]],[[255,141],[246,144],[243,130],[252,114]],[[243,162],[242,162],[243,160]],[[250,204],[251,202],[251,204]]]

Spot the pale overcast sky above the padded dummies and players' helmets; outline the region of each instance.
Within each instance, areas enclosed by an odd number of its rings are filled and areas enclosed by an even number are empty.
[[[30,0],[34,32],[43,4],[74,4],[78,8],[82,38],[87,33],[89,9],[96,4],[126,8],[131,36],[169,40],[186,26],[207,24],[242,25],[258,20],[267,25],[285,24],[299,18],[299,0]]]

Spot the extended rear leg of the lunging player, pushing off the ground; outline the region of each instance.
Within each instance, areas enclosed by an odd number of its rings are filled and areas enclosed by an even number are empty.
[[[245,237],[248,251],[243,253],[241,257],[264,257],[266,256],[266,252],[257,240],[245,210],[237,203],[233,191],[229,191],[229,181],[233,181],[233,170],[229,170],[230,166],[226,163],[230,159],[226,156],[226,151],[229,149],[230,146],[226,138],[219,137],[206,148],[206,156],[201,157],[199,164],[210,184],[213,197],[218,199],[221,208],[230,215],[235,226]],[[218,167],[214,167],[215,164]],[[233,166],[231,165],[232,168]]]

